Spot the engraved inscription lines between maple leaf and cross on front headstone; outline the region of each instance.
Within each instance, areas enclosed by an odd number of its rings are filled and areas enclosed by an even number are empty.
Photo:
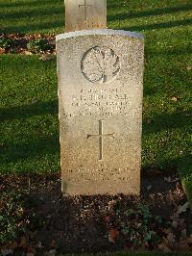
[[[129,115],[132,113],[132,101],[123,89],[87,89],[70,97],[71,113],[77,115]],[[134,109],[135,113],[135,109]]]

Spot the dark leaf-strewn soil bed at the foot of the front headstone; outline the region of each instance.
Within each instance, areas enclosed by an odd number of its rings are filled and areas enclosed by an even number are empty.
[[[44,225],[31,228],[28,245],[36,247],[40,254],[53,250],[63,253],[192,250],[192,215],[186,207],[180,181],[174,173],[167,177],[163,173],[155,169],[145,171],[140,198],[123,194],[62,197],[60,174],[31,177],[27,200],[36,205],[33,211]],[[26,187],[29,179],[25,177],[19,183]],[[142,215],[149,214],[145,206],[152,216],[143,218]],[[140,214],[142,207],[144,213]],[[158,223],[157,218],[161,218]],[[143,221],[147,221],[146,225]],[[129,227],[132,229],[128,231]],[[145,240],[149,234],[160,240]]]

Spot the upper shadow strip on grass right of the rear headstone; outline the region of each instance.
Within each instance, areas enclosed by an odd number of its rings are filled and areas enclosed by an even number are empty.
[[[120,7],[120,6],[119,6]],[[108,8],[117,8],[117,6],[111,6],[108,5]],[[154,16],[154,15],[162,15],[162,14],[169,14],[169,13],[178,13],[178,12],[186,12],[191,11],[192,5],[182,5],[182,6],[176,6],[176,7],[168,7],[168,8],[162,8],[162,9],[153,9],[153,10],[147,10],[140,13],[132,13],[132,11],[128,9],[127,13],[116,13],[116,14],[109,14],[108,15],[108,21],[115,21],[115,20],[124,20],[124,19],[130,19],[130,18],[139,18],[139,17],[146,17],[146,16]]]

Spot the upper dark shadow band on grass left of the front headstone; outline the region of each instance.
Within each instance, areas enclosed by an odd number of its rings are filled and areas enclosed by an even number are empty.
[[[0,109],[0,119],[11,120],[29,118],[33,115],[58,114],[58,101],[39,102],[33,105]]]

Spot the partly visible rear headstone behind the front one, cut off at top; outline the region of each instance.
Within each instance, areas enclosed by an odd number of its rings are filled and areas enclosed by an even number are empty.
[[[65,32],[107,28],[107,0],[65,0]]]

